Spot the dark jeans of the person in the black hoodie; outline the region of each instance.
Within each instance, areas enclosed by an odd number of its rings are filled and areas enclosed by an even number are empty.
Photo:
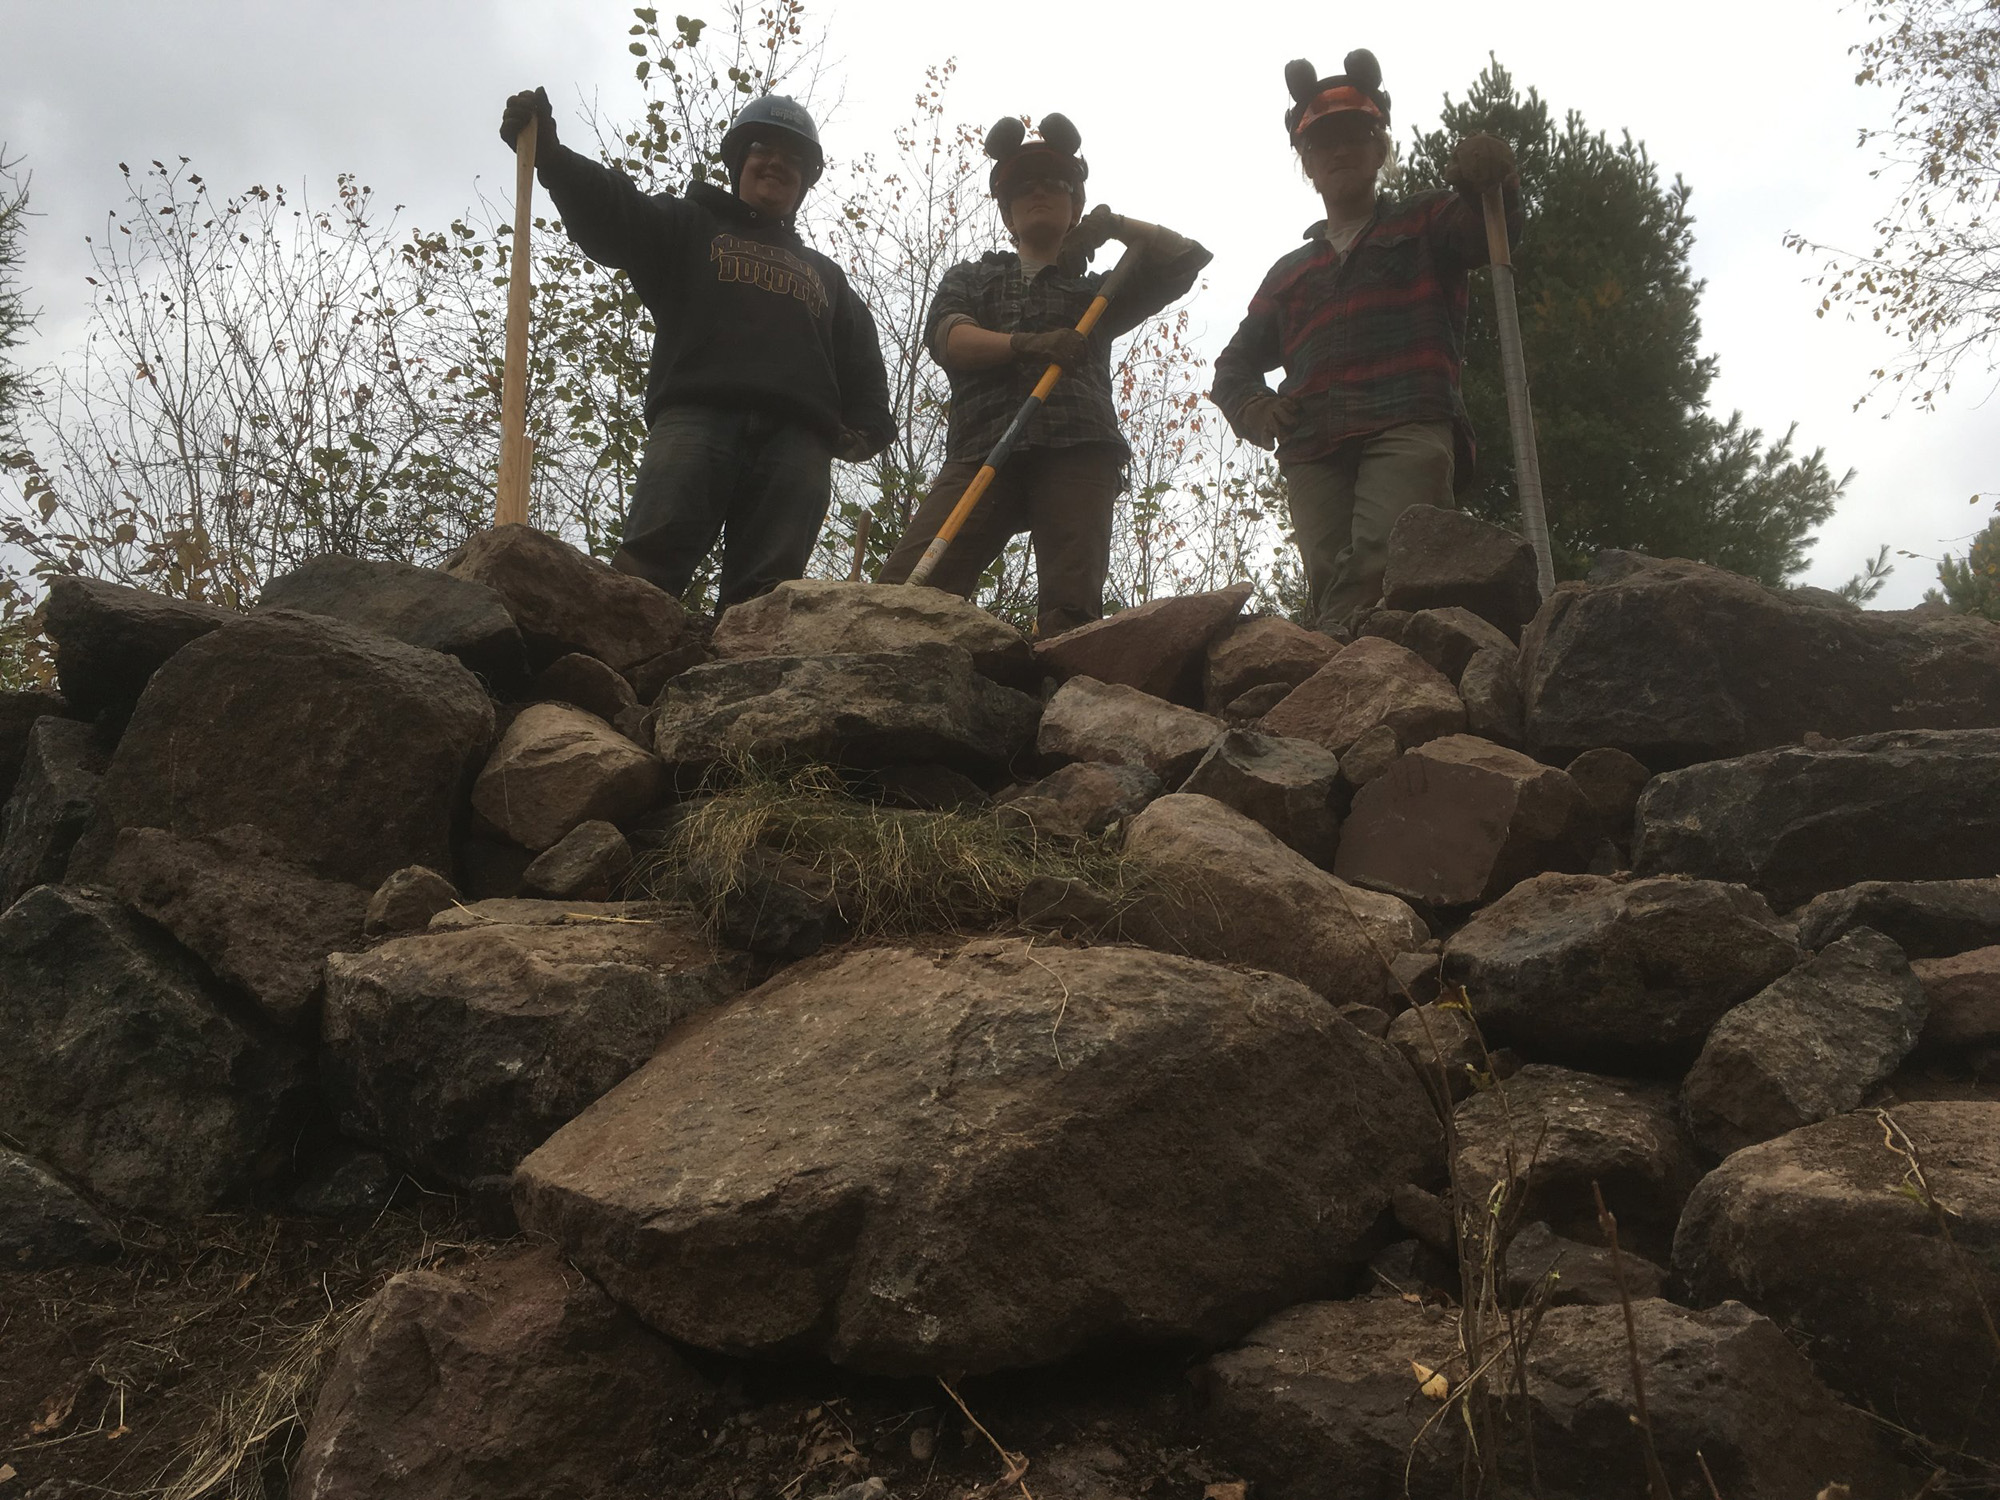
[[[646,434],[612,566],[676,598],[722,538],[716,610],[802,578],[826,520],[832,450],[772,412],[668,406]]]

